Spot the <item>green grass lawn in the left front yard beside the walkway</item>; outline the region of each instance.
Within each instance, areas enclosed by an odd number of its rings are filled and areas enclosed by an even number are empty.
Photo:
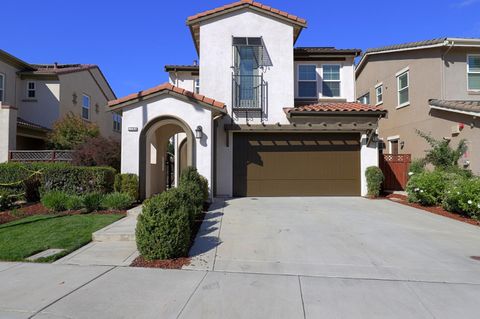
[[[37,215],[0,225],[0,260],[22,261],[50,248],[65,251],[40,261],[51,262],[92,240],[92,233],[124,215]]]

